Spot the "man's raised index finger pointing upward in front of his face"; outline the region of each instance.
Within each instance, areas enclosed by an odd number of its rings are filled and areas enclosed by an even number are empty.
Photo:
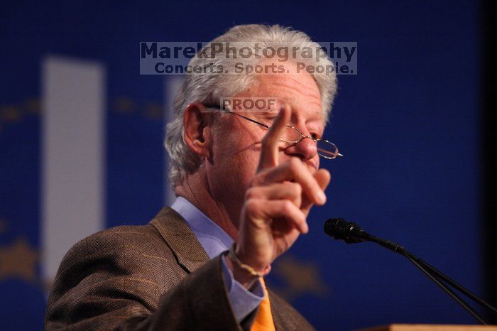
[[[261,158],[259,159],[257,172],[278,165],[278,143],[280,142],[280,136],[283,135],[288,122],[290,122],[291,115],[292,109],[290,105],[283,104],[273,126],[262,140]]]

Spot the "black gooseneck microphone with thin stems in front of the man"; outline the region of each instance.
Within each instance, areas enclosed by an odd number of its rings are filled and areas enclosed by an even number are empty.
[[[419,257],[410,253],[410,251],[405,249],[403,246],[395,244],[395,242],[391,242],[390,240],[381,239],[368,234],[364,231],[363,228],[359,227],[359,225],[354,222],[347,222],[345,219],[342,218],[330,218],[327,219],[326,222],[324,222],[324,232],[326,232],[326,234],[328,234],[329,236],[334,237],[334,239],[343,240],[347,244],[357,244],[359,242],[376,242],[376,244],[379,244],[383,247],[386,247],[387,249],[390,249],[391,251],[395,251],[395,253],[405,256],[405,258],[407,258],[417,268],[419,268],[422,273],[425,273],[425,275],[428,276],[428,278],[430,278],[432,281],[434,281],[437,286],[442,288],[445,293],[447,293],[452,299],[459,303],[462,308],[473,315],[476,320],[479,320],[479,322],[485,325],[488,323],[483,318],[481,318],[481,316],[476,313],[476,311],[471,308],[470,305],[462,300],[459,295],[454,293],[454,291],[449,288],[447,284],[457,289],[471,300],[474,300],[474,302],[479,303],[485,308],[491,310],[494,314],[497,314],[497,309],[494,308],[492,305],[486,303],[484,300],[474,295],[474,293],[471,293],[469,290],[464,288],[464,286],[461,286],[459,285],[459,283],[453,281],[452,278],[449,278],[449,276],[444,275],[444,273],[439,271],[434,266],[430,266],[430,264],[427,264]]]

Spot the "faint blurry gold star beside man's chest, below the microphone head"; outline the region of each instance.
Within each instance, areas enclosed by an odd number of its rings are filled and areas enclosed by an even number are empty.
[[[291,301],[302,294],[312,294],[322,298],[329,293],[320,277],[319,268],[312,262],[285,255],[276,260],[273,273],[285,283],[284,288],[273,286],[274,291],[286,300]]]

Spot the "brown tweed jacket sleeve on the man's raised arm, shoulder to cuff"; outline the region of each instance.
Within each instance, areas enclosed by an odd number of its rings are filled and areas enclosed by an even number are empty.
[[[101,232],[67,252],[45,330],[250,329],[256,311],[237,322],[220,256],[187,274],[172,254],[127,236]]]

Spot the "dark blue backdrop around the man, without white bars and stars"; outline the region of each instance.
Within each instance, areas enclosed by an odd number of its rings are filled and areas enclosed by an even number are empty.
[[[392,322],[474,320],[408,261],[373,244],[326,237],[327,217],[359,222],[483,294],[480,244],[480,31],[474,1],[7,2],[0,10],[0,107],[40,99],[40,60],[67,55],[107,66],[107,226],[144,224],[163,205],[163,78],[139,75],[143,40],[211,40],[241,23],[279,23],[320,41],[356,41],[358,75],[339,77],[326,136],[345,158],[325,207],[290,251],[319,271],[325,295],[292,303],[319,330]],[[114,102],[126,97],[133,112]],[[1,113],[0,113],[1,114]],[[0,246],[40,244],[40,121],[0,117]],[[279,276],[278,276],[279,275]],[[284,288],[280,273],[270,278]],[[2,330],[40,330],[40,282],[0,279]]]

